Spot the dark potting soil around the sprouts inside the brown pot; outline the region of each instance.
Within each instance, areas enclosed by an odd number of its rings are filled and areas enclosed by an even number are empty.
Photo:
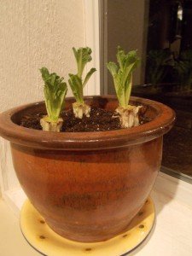
[[[20,120],[20,126],[26,128],[32,128],[36,130],[42,130],[40,125],[40,119],[46,113],[37,113],[32,115],[25,115]],[[115,116],[112,111],[108,111],[102,108],[90,108],[90,117],[83,116],[82,119],[74,117],[73,109],[63,111],[61,113],[63,119],[63,125],[61,131],[67,132],[82,132],[82,131],[111,131],[119,130],[120,122],[119,117]],[[140,125],[149,121],[144,118],[143,114],[139,117]]]

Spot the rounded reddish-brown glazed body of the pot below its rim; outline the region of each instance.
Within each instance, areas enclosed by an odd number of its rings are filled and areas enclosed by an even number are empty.
[[[125,230],[153,187],[161,146],[162,137],[91,152],[11,144],[15,171],[32,204],[53,230],[79,241],[106,240]]]

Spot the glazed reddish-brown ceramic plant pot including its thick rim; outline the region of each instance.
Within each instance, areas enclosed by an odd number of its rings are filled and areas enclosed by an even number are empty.
[[[91,106],[114,110],[113,96],[85,97]],[[68,98],[66,108],[73,99]],[[175,113],[159,102],[132,97],[153,120],[131,129],[47,132],[20,127],[44,102],[0,115],[0,134],[11,143],[15,172],[49,227],[75,241],[104,241],[125,231],[143,207],[160,170],[162,137]]]

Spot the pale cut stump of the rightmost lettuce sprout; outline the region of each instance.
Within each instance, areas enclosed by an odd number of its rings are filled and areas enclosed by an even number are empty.
[[[142,106],[131,106],[127,108],[118,107],[115,111],[119,113],[121,128],[131,128],[139,125],[138,113]]]

